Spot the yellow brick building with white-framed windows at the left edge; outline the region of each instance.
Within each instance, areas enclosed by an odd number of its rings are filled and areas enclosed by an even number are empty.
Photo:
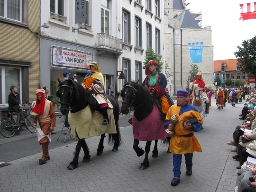
[[[8,4],[8,5],[7,5]],[[10,5],[11,4],[11,5]],[[3,6],[2,6],[3,5]],[[3,0],[0,6],[0,110],[17,86],[21,102],[36,99],[40,86],[40,0]]]

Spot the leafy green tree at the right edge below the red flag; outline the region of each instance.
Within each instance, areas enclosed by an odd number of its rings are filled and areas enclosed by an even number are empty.
[[[237,46],[236,55],[240,70],[244,73],[251,73],[256,77],[256,36],[242,41],[241,47]]]

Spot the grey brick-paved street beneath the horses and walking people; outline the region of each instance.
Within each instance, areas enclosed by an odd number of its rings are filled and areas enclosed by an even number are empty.
[[[79,167],[74,170],[68,170],[67,166],[73,159],[76,142],[57,148],[52,148],[51,143],[51,159],[41,166],[38,163],[41,151],[8,162],[11,165],[0,168],[0,192],[234,192],[239,163],[232,159],[235,153],[230,152],[231,146],[226,142],[232,139],[236,125],[241,123],[238,115],[243,104],[238,103],[233,108],[227,103],[227,107],[218,111],[212,99],[210,114],[204,118],[204,128],[195,133],[203,152],[193,155],[192,176],[186,175],[183,157],[178,186],[170,184],[173,178],[172,154],[166,153],[167,147],[160,142],[158,157],[151,157],[152,142],[149,167],[139,169],[144,155],[137,157],[134,152],[132,126],[127,126],[120,128],[123,145],[117,152],[112,152],[112,146],[105,140],[103,154],[96,156],[100,137],[87,138],[90,162],[82,163],[84,153],[81,151]],[[140,146],[144,149],[145,142],[140,142]]]

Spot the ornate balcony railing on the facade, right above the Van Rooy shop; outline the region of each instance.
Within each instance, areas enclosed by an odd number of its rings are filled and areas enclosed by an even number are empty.
[[[97,33],[97,36],[98,47],[105,46],[122,51],[122,39],[107,35],[105,33]]]

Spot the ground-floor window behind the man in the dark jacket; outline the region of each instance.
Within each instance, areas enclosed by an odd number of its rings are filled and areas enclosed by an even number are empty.
[[[8,104],[10,87],[15,85],[20,97],[21,92],[21,68],[0,66],[0,104]],[[21,99],[21,98],[20,98]]]

